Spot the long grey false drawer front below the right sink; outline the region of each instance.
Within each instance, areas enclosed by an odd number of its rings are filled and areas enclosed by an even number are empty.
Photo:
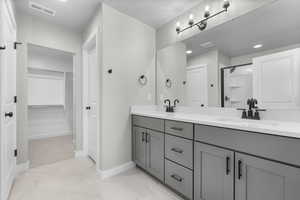
[[[195,140],[300,167],[300,139],[195,125]]]

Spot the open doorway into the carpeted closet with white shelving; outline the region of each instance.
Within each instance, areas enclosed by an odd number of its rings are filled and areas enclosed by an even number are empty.
[[[30,167],[74,157],[73,55],[28,45]]]

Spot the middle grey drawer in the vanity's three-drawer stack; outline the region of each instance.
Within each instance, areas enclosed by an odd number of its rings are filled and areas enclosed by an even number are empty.
[[[193,169],[193,141],[166,135],[166,158]]]

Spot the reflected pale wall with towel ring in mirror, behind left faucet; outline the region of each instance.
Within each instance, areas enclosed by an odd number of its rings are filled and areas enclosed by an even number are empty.
[[[186,81],[186,45],[178,42],[157,52],[157,103],[163,105],[165,99],[174,101],[179,99],[184,105]],[[165,83],[169,78],[172,87],[167,88]]]

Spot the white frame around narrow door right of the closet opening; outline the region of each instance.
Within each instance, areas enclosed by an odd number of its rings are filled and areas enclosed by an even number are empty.
[[[99,48],[98,48],[98,31],[93,32],[88,39],[84,42],[82,46],[82,60],[83,60],[83,69],[82,69],[82,120],[83,120],[83,154],[85,156],[88,155],[88,112],[86,111],[85,107],[88,103],[88,51],[91,47],[95,47],[96,50],[96,65],[99,66]],[[96,165],[97,169],[100,166],[100,67],[97,67],[97,75],[96,75],[96,83],[97,83],[97,124],[96,124],[96,133],[97,133],[97,152],[96,152]]]

